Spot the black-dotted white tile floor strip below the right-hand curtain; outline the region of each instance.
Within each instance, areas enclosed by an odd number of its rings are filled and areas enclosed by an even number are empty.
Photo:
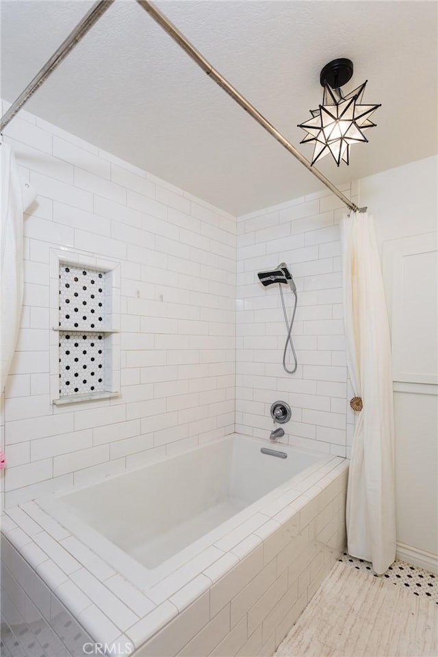
[[[403,587],[403,589],[411,591],[413,595],[427,597],[438,604],[438,575],[434,575],[427,570],[396,559],[384,575],[378,576],[374,573],[372,565],[368,561],[357,559],[347,552],[344,552],[339,561],[357,570],[365,571],[374,577],[380,577],[389,584]]]

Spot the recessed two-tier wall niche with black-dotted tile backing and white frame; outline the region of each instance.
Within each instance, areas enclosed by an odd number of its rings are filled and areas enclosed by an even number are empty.
[[[120,395],[120,266],[51,253],[51,397],[62,406]]]

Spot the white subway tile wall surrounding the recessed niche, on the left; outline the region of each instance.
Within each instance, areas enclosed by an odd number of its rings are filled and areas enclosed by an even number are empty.
[[[5,387],[5,503],[234,430],[235,219],[27,112],[5,129],[38,192]],[[49,254],[121,263],[121,396],[55,407]]]

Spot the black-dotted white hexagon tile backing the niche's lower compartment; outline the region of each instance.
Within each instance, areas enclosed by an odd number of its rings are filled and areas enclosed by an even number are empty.
[[[105,335],[94,331],[60,331],[60,395],[104,389]]]

